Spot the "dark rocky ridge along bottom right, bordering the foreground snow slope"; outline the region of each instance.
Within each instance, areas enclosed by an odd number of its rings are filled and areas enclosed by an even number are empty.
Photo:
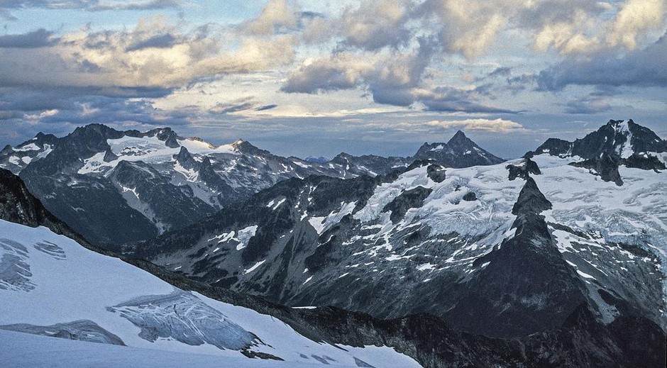
[[[378,320],[334,307],[285,308],[194,282],[145,261],[130,262],[181,288],[280,318],[312,340],[351,346],[388,345],[424,367],[663,367],[666,359],[661,354],[666,337],[655,323],[622,316],[605,325],[584,306],[575,308],[557,328],[505,340],[453,330],[429,314]]]

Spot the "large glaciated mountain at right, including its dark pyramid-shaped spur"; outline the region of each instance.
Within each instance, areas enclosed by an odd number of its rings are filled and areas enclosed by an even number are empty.
[[[290,179],[126,250],[290,306],[432,313],[500,338],[557,328],[582,305],[600,323],[664,329],[666,172],[621,163],[619,186],[583,161]]]

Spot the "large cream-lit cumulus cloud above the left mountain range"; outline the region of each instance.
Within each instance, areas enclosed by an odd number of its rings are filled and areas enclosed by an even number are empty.
[[[296,41],[293,35],[236,36],[200,29],[183,32],[165,18],[145,18],[132,30],[84,29],[62,35],[50,47],[0,49],[0,57],[8,60],[0,65],[0,82],[169,89],[197,78],[285,65],[294,57]],[[14,43],[16,39],[6,40],[7,45]]]

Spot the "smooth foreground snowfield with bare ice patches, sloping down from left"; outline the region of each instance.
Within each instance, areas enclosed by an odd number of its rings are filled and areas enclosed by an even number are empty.
[[[0,221],[0,234],[0,329],[133,347],[53,342],[0,332],[0,362],[9,366],[44,362],[39,360],[44,359],[40,349],[55,362],[67,362],[57,354],[57,346],[77,349],[87,357],[84,359],[114,355],[109,362],[121,365],[130,362],[123,359],[132,357],[165,355],[181,359],[177,361],[211,362],[206,356],[214,355],[220,363],[230,358],[230,364],[239,367],[246,362],[249,367],[272,366],[271,362],[250,362],[241,354],[244,350],[292,363],[286,367],[319,365],[320,359],[344,367],[357,367],[357,362],[374,367],[419,367],[413,359],[387,347],[341,349],[308,340],[276,318],[176,289],[47,228]],[[23,350],[21,358],[10,354],[9,347],[36,350],[30,355]],[[151,352],[156,350],[160,352]],[[165,360],[147,364],[156,362]]]

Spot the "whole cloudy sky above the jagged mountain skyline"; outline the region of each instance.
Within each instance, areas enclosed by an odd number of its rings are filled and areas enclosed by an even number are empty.
[[[667,0],[0,0],[0,144],[105,123],[280,155],[667,136]]]

